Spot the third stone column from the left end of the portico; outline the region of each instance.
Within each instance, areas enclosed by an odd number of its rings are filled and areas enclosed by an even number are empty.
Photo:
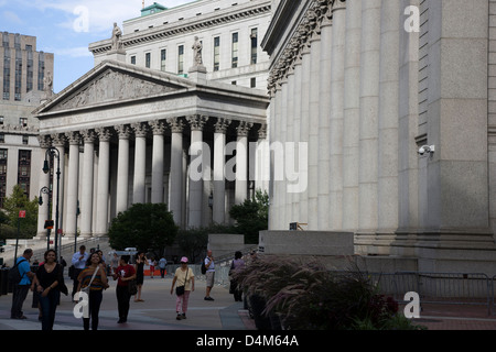
[[[77,233],[77,202],[79,200],[79,143],[78,132],[67,132],[65,136],[69,143],[68,178],[67,178],[67,223],[65,235],[74,238]]]

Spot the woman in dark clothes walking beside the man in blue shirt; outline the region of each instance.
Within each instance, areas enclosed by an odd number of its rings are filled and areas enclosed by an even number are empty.
[[[68,294],[64,284],[64,267],[57,264],[57,253],[47,250],[44,263],[36,271],[36,295],[40,302],[42,330],[53,330],[55,311],[61,298],[61,292]]]

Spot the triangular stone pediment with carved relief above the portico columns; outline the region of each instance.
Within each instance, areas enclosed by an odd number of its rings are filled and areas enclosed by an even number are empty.
[[[161,97],[194,87],[188,79],[118,62],[104,62],[35,113],[105,107],[133,100]]]

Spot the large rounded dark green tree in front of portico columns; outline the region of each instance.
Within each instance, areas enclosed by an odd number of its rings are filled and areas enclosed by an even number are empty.
[[[112,220],[108,237],[116,250],[137,248],[162,254],[174,242],[177,230],[165,204],[136,204]]]

